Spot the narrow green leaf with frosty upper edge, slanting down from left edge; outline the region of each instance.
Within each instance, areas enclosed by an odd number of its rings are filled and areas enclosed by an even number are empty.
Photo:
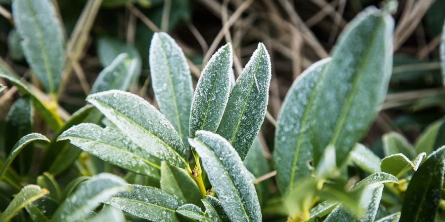
[[[1,65],[0,77],[9,80],[12,85],[17,87],[20,93],[24,95],[30,95],[35,110],[45,120],[49,127],[51,127],[52,130],[58,130],[60,125],[62,125],[62,120],[54,109],[54,106],[51,106],[48,102],[39,98],[36,93],[34,93],[33,90],[31,90],[31,88],[28,86],[28,83],[22,81],[16,74],[11,73],[9,70],[2,67]]]

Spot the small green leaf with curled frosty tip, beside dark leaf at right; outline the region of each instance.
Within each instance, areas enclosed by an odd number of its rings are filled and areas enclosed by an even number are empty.
[[[416,171],[425,157],[426,153],[422,152],[411,162],[408,157],[401,153],[393,154],[383,158],[381,168],[383,172],[401,177],[410,169]]]

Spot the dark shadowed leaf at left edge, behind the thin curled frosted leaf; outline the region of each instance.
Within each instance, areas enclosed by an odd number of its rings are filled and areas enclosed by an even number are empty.
[[[33,130],[34,109],[31,106],[29,96],[23,96],[17,99],[6,115],[5,123],[3,125],[3,133],[0,136],[3,150],[6,153],[11,151],[14,144],[26,134]],[[21,175],[29,171],[32,163],[32,156],[34,156],[34,149],[29,148],[23,150],[17,156],[17,161],[13,166]]]

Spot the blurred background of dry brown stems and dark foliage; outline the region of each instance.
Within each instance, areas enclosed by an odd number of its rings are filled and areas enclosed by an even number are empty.
[[[268,114],[261,131],[269,152],[275,119],[295,78],[315,61],[329,56],[339,34],[359,11],[384,4],[380,0],[52,1],[63,21],[70,55],[65,87],[59,96],[62,109],[68,113],[85,105],[94,79],[109,63],[106,55],[122,45],[130,46],[134,50],[131,53],[139,54],[142,61],[140,78],[130,91],[155,104],[148,67],[154,32],[168,32],[176,39],[189,60],[194,84],[203,65],[225,42],[232,42],[235,76],[258,42],[264,42],[272,59]],[[0,0],[0,5],[0,62],[39,85],[29,74],[13,29],[10,0]],[[445,0],[400,0],[393,16],[395,56],[390,89],[377,121],[363,139],[380,156],[381,135],[396,131],[414,142],[445,111],[439,59]],[[18,94],[9,91],[0,101],[12,104],[15,98]],[[0,115],[5,116],[8,107],[1,106]],[[37,132],[49,132],[39,119],[34,127]]]

